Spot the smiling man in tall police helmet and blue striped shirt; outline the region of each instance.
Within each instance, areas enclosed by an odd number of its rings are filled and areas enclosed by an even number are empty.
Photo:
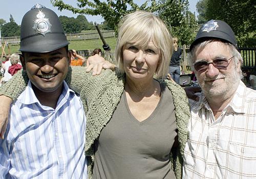
[[[0,140],[0,178],[87,178],[86,117],[64,81],[69,42],[58,16],[35,5],[23,17],[20,39],[29,83]]]

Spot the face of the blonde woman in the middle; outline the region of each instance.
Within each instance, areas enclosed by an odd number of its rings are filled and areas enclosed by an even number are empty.
[[[123,66],[126,77],[131,80],[153,79],[160,58],[160,50],[153,42],[143,48],[127,43],[123,47]]]

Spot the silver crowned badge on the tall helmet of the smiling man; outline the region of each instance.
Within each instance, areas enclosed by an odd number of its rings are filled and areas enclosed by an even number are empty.
[[[38,33],[45,36],[48,32],[51,32],[51,23],[49,18],[45,18],[45,14],[39,11],[36,15],[37,19],[34,20],[33,29]]]

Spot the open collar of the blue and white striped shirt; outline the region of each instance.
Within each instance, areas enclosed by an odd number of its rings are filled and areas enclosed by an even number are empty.
[[[69,86],[67,85],[67,83],[65,81],[63,81],[63,90],[62,93],[60,95],[64,97],[66,100],[68,100],[68,98],[71,95],[75,95],[75,92],[69,88]],[[31,81],[29,80],[28,85],[25,89],[25,91],[20,95],[20,98],[18,99],[20,103],[22,104],[33,104],[33,103],[38,103],[40,104],[40,102],[38,101],[38,99],[35,96],[35,93],[33,91],[32,85],[31,85]]]

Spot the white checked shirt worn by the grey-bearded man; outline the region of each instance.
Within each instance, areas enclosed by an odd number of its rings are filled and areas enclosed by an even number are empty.
[[[256,91],[240,81],[217,120],[203,94],[190,105],[183,178],[256,178]]]

